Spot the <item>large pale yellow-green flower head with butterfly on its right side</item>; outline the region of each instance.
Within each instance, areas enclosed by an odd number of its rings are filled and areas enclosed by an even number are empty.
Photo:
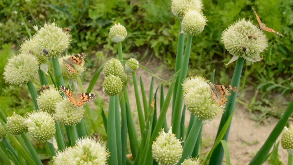
[[[209,82],[200,76],[186,78],[183,98],[187,110],[198,119],[212,120],[223,112],[224,105],[217,105],[212,99]]]

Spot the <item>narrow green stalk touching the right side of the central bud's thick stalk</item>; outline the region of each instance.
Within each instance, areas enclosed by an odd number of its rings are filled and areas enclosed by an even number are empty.
[[[116,143],[117,143],[118,164],[122,165],[121,126],[120,126],[119,96],[118,95],[115,96],[115,129],[116,129],[116,139],[117,139]]]

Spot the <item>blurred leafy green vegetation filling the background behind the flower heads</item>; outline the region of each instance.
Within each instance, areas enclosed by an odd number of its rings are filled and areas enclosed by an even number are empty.
[[[257,24],[251,9],[253,6],[266,26],[285,37],[264,32],[269,47],[260,62],[246,61],[243,70],[248,75],[246,91],[250,95],[240,103],[250,112],[257,110],[265,115],[279,116],[281,112],[278,110],[284,109],[275,109],[273,105],[285,106],[293,90],[293,1],[204,0],[203,3],[208,22],[203,33],[193,39],[188,74],[209,77],[216,69],[215,83],[229,84],[235,63],[224,65],[231,55],[220,42],[220,37],[224,29],[239,19],[250,19]],[[89,72],[83,76],[85,80],[90,78],[91,69],[94,71],[106,58],[117,54],[108,31],[118,22],[128,31],[123,43],[125,57],[157,58],[171,69],[175,67],[180,20],[173,16],[170,0],[1,0],[1,73],[7,58],[17,53],[20,44],[28,37],[19,12],[32,34],[35,33],[32,25],[43,26],[45,22],[55,21],[58,26],[71,28],[72,41],[67,52],[88,54]],[[2,74],[0,78],[1,109],[8,115],[13,111],[23,114],[31,110],[33,105],[28,100],[26,87],[5,84]],[[264,117],[252,115],[252,118],[262,121]]]

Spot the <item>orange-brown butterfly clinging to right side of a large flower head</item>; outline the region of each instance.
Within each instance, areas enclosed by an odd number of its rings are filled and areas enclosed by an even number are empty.
[[[230,96],[230,91],[237,92],[238,90],[238,87],[234,87],[231,85],[214,85],[212,83],[209,83],[209,87],[211,90],[212,99],[219,106],[227,102],[225,95]]]

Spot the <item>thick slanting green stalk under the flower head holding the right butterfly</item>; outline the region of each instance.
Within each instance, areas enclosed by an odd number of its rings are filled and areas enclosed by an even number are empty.
[[[197,139],[201,126],[202,126],[202,120],[195,119],[195,121],[193,122],[193,126],[190,130],[190,133],[189,133],[189,135],[185,141],[185,144],[183,146],[182,157],[177,164],[181,164],[184,161],[184,159],[188,159],[188,157],[191,157],[191,154],[193,152],[193,148],[196,143],[196,141],[194,139]]]

